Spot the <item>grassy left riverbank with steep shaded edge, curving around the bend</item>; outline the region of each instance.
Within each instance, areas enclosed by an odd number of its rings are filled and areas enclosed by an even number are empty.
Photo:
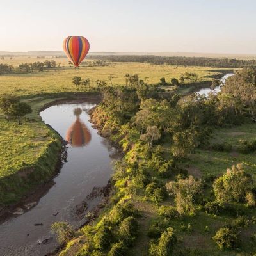
[[[65,141],[51,127],[42,122],[39,113],[54,104],[67,100],[98,99],[100,93],[57,93],[23,98],[33,112],[22,125],[0,118],[0,149],[3,164],[0,168],[0,218],[8,212],[35,201],[52,185],[52,177],[61,168],[61,152]],[[39,187],[38,187],[39,186]],[[31,201],[29,200],[29,201]],[[23,207],[24,208],[24,207]],[[22,209],[23,209],[22,208]],[[24,209],[26,211],[26,208]],[[20,210],[20,212],[22,212]]]

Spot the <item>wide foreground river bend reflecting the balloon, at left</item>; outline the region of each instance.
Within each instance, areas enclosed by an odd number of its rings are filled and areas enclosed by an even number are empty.
[[[84,214],[102,200],[100,196],[88,198],[88,195],[93,188],[108,184],[116,152],[92,127],[88,109],[93,106],[96,103],[71,102],[51,106],[40,113],[46,124],[69,141],[67,159],[53,180],[54,186],[35,207],[0,225],[0,255],[40,256],[52,252],[58,243],[51,234],[51,224],[68,221],[79,227],[84,223]],[[74,212],[76,205],[84,200],[88,209],[83,211],[80,220]]]

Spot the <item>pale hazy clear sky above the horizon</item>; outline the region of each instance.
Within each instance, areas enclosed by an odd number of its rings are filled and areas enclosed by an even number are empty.
[[[256,54],[255,0],[0,0],[0,51]]]

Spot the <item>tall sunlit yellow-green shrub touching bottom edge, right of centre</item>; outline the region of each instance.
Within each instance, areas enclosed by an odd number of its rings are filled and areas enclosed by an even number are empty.
[[[172,255],[173,246],[177,243],[177,237],[174,234],[173,228],[167,228],[159,238],[157,246],[158,256]]]

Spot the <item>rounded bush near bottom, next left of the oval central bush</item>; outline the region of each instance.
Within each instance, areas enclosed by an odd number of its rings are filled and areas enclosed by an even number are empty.
[[[104,250],[108,248],[108,246],[110,246],[112,238],[112,232],[111,230],[109,230],[108,227],[100,227],[99,230],[97,230],[95,236],[93,237],[95,248],[99,250]]]

